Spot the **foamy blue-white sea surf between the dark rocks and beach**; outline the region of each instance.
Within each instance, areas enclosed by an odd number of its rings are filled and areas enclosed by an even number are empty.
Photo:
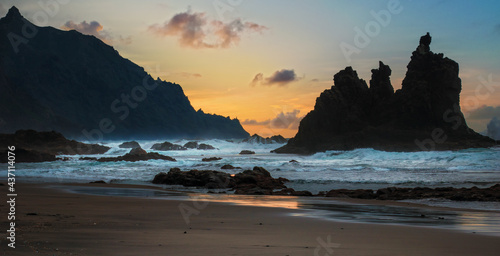
[[[138,141],[150,150],[154,143]],[[186,140],[170,141],[184,145]],[[181,170],[219,170],[237,173],[241,170],[221,170],[225,164],[243,169],[254,166],[266,168],[273,177],[290,180],[286,185],[295,190],[313,193],[331,189],[378,189],[399,187],[489,187],[500,183],[500,147],[435,152],[384,152],[373,149],[327,151],[309,156],[274,154],[271,150],[281,144],[252,144],[226,140],[198,141],[216,147],[216,150],[189,149],[184,151],[155,151],[174,157],[177,162],[150,160],[140,162],[107,162],[78,160],[81,156],[62,156],[69,161],[18,163],[17,179],[22,181],[82,182],[104,180],[114,183],[149,184],[159,172],[170,168]],[[103,143],[111,147],[104,155],[124,155],[130,149],[119,148],[122,141]],[[252,150],[254,155],[239,155]],[[205,157],[222,160],[202,162]],[[297,162],[290,162],[295,160]],[[0,175],[6,177],[6,168]]]

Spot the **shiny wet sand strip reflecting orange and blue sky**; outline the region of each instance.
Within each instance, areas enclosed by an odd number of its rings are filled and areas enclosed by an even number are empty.
[[[291,196],[184,193],[148,188],[87,186],[54,186],[54,188],[73,193],[101,196],[147,197],[163,200],[189,200],[253,207],[286,208],[300,210],[291,214],[301,217],[322,218],[332,221],[446,228],[500,236],[500,212],[498,211],[360,204],[331,199]]]

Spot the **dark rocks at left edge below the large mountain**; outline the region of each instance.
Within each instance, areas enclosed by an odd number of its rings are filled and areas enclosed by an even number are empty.
[[[37,132],[19,130],[14,134],[0,134],[0,148],[14,145],[18,160],[33,158],[50,161],[49,155],[87,155],[103,154],[110,148],[98,144],[85,144],[68,140],[57,132]],[[23,151],[21,151],[23,149]],[[23,156],[23,154],[26,154]]]

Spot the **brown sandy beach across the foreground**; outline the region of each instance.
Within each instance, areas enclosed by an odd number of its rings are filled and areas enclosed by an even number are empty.
[[[295,217],[295,209],[75,194],[47,184],[17,184],[17,191],[16,248],[7,247],[4,236],[2,255],[442,256],[500,251],[500,237]],[[2,209],[7,209],[5,202]],[[6,218],[1,223],[6,230]]]

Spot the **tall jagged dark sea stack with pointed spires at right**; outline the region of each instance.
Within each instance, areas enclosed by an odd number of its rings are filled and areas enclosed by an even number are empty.
[[[379,62],[370,87],[347,67],[334,86],[316,99],[314,110],[277,153],[374,148],[385,151],[456,150],[496,142],[470,129],[460,110],[458,64],[430,51],[423,36],[408,64],[402,88],[394,92],[391,69]]]

